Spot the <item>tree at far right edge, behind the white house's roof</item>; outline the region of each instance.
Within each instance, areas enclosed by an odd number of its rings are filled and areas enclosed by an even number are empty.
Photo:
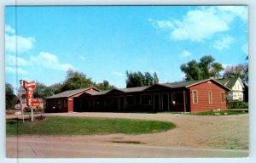
[[[248,82],[248,65],[238,64],[227,66],[224,70],[224,77],[240,77],[241,80]]]

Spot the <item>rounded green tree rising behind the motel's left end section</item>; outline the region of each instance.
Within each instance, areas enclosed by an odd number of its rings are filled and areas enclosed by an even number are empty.
[[[79,71],[74,71],[72,69],[67,70],[66,80],[61,87],[61,92],[85,87],[92,87],[94,83],[90,78]]]

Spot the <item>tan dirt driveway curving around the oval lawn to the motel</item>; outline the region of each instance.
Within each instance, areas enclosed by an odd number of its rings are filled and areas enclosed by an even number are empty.
[[[154,146],[199,148],[199,149],[248,149],[248,115],[179,115],[170,113],[132,114],[132,113],[61,113],[46,116],[84,116],[129,118],[155,121],[171,121],[176,128],[167,132],[142,135],[95,135],[95,136],[20,136],[21,139],[47,141],[72,141],[88,143],[147,143]],[[127,142],[126,142],[127,143]]]

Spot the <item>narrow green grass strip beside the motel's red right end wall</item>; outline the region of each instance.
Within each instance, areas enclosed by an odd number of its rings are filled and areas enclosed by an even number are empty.
[[[226,113],[227,115],[241,115],[241,114],[247,114],[248,110],[206,111],[206,112],[200,112],[200,113],[193,113],[192,115],[215,115],[216,113],[218,113],[219,115],[224,115],[224,113]]]

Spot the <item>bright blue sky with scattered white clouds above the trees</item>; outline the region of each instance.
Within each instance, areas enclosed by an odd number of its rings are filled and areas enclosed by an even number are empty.
[[[63,82],[69,68],[117,87],[125,87],[125,70],[177,82],[180,65],[204,55],[224,66],[247,62],[247,6],[6,7],[5,14],[5,76],[14,86]]]

